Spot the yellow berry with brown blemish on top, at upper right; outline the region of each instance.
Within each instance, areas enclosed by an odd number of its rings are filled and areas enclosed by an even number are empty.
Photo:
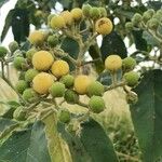
[[[99,35],[108,35],[112,31],[112,22],[107,17],[99,18],[95,24],[96,32]]]

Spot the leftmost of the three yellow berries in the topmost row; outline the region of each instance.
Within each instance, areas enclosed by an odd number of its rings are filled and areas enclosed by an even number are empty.
[[[51,19],[51,27],[53,29],[62,29],[66,26],[65,19],[63,16],[53,16]]]

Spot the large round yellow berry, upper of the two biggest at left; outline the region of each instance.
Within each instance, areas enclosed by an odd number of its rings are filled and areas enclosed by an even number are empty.
[[[54,58],[48,51],[36,52],[32,56],[32,65],[37,70],[48,70],[52,66]]]

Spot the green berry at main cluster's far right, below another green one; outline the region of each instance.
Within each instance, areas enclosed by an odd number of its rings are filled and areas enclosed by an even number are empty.
[[[135,71],[130,71],[126,72],[123,78],[129,86],[135,86],[138,83],[139,75]]]

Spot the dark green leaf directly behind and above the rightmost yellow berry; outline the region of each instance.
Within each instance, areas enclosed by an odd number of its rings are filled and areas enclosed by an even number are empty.
[[[112,31],[110,35],[103,38],[100,52],[103,60],[110,54],[118,54],[122,58],[127,56],[126,46],[122,38],[116,31]]]

